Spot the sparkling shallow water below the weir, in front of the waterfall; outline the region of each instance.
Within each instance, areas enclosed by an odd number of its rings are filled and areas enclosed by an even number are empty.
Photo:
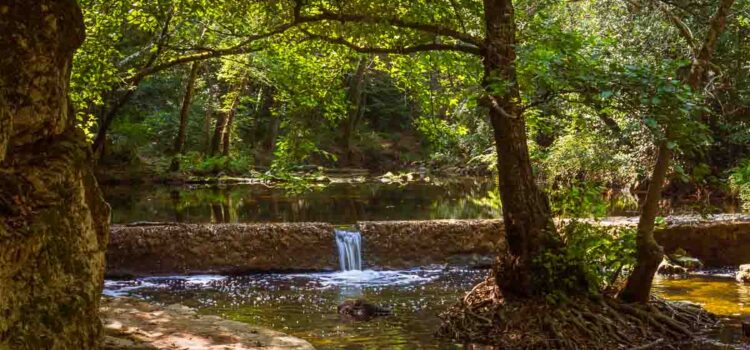
[[[485,270],[425,268],[147,278],[108,281],[107,292],[133,293],[162,304],[183,303],[204,314],[284,331],[317,349],[460,349],[461,344],[433,337],[440,323],[437,315],[486,274]],[[701,303],[731,317],[721,339],[740,341],[736,320],[750,315],[750,286],[729,277],[657,278],[655,292],[672,300]],[[394,315],[368,322],[342,320],[336,306],[347,298],[365,298],[392,308]]]

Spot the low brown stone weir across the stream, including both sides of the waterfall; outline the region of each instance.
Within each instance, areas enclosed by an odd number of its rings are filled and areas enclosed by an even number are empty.
[[[750,263],[750,218],[674,217],[668,222],[656,232],[665,251],[684,249],[706,267]],[[502,220],[365,221],[356,227],[365,268],[488,266],[505,244]],[[334,231],[327,223],[112,225],[107,275],[333,271],[339,267]]]

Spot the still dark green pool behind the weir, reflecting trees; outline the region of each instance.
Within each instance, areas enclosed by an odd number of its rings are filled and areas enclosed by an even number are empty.
[[[351,224],[362,220],[488,219],[500,217],[496,186],[487,178],[432,183],[333,183],[303,193],[266,185],[105,187],[114,223],[299,222]],[[598,215],[637,214],[634,196],[604,196],[591,203]],[[553,202],[555,207],[555,202]],[[710,207],[665,201],[663,214],[736,211],[732,203]]]

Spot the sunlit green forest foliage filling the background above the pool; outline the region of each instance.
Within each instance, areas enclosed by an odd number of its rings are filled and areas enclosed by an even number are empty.
[[[408,16],[482,32],[473,1],[433,5],[411,8]],[[254,166],[385,171],[422,164],[484,172],[496,165],[475,57],[356,48],[445,38],[350,22],[286,26],[294,22],[294,2],[87,0],[82,6],[88,39],[76,55],[73,100],[92,138],[112,119],[105,163],[169,168],[175,151],[169,140],[178,134],[195,63],[183,170],[247,175]],[[398,13],[398,6],[320,2],[304,9]],[[750,157],[747,1],[736,5],[719,38],[706,90],[680,82],[697,41],[683,29],[698,38],[713,6],[517,2],[518,79],[532,158],[546,186],[643,188],[655,145],[668,137],[679,155],[675,191],[728,189],[729,169]],[[732,188],[741,187],[736,182]]]

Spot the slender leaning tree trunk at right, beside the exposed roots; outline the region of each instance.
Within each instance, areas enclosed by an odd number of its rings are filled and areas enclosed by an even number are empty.
[[[700,50],[694,54],[693,62],[690,67],[688,76],[684,78],[694,91],[698,91],[706,84],[708,68],[714,51],[716,51],[716,41],[724,32],[726,27],[726,18],[729,15],[729,9],[735,0],[721,0],[716,13],[711,17],[709,30]],[[669,145],[669,130],[665,133],[664,140],[659,142],[658,153],[656,156],[656,165],[651,175],[651,183],[648,186],[648,193],[641,208],[641,216],[638,221],[637,235],[637,258],[635,268],[628,278],[625,288],[619,295],[619,298],[628,302],[647,303],[651,295],[651,285],[654,274],[659,268],[659,263],[664,255],[661,246],[654,240],[654,221],[659,211],[659,201],[661,200],[662,187],[669,170],[669,162],[672,157],[672,151]]]

